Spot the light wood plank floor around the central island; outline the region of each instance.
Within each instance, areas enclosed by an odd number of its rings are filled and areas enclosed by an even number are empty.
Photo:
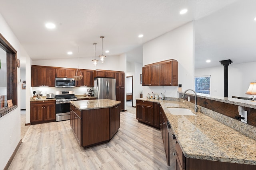
[[[121,112],[120,129],[106,144],[79,147],[70,121],[32,125],[9,170],[168,169],[160,131]]]

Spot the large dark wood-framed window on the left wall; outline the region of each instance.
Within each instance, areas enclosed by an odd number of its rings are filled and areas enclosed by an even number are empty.
[[[0,34],[0,117],[17,108],[17,51]],[[7,106],[12,100],[13,106]]]

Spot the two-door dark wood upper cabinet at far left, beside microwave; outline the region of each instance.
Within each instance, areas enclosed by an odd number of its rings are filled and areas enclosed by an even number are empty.
[[[31,66],[31,86],[55,87],[55,68],[47,66]]]

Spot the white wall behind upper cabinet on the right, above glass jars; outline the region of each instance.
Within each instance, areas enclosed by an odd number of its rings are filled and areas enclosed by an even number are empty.
[[[178,84],[194,89],[194,23],[189,22],[143,45],[143,66],[168,59],[178,61]],[[143,96],[154,92],[177,97],[178,86],[143,86]]]

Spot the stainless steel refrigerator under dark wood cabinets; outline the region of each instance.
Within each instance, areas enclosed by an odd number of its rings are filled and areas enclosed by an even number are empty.
[[[94,80],[94,94],[97,99],[116,100],[116,79],[96,78]]]

